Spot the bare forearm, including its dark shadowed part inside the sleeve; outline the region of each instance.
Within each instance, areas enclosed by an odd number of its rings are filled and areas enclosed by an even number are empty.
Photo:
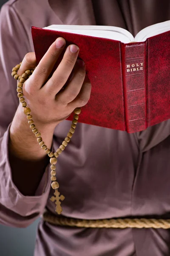
[[[55,127],[35,125],[51,148]],[[21,106],[11,123],[8,151],[14,184],[23,195],[34,195],[50,158],[37,142]]]

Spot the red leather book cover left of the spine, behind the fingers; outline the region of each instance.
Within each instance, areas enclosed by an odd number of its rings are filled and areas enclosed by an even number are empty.
[[[65,38],[66,46],[79,46],[79,58],[85,62],[92,84],[91,98],[82,108],[79,122],[125,131],[120,42],[36,27],[31,32],[37,64],[57,37]]]

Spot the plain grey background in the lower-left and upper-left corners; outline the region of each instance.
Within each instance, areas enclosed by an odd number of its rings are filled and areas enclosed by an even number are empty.
[[[7,0],[0,0],[0,8]],[[33,256],[37,224],[27,228],[0,225],[0,256]]]

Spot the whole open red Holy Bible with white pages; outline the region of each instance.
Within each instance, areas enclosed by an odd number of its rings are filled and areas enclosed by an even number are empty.
[[[79,47],[92,84],[79,122],[133,133],[170,119],[170,21],[135,38],[111,26],[52,25],[31,33],[37,64],[58,37]]]

